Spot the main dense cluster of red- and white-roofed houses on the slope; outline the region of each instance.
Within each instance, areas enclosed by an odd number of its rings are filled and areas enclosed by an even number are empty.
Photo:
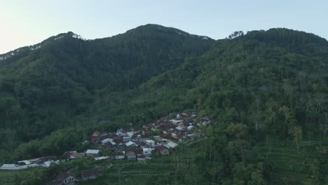
[[[170,117],[172,114],[160,118],[155,123],[143,125],[142,128],[118,129],[114,133],[95,131],[90,139],[91,142],[99,143],[102,150],[109,150],[112,159],[147,160],[151,158],[151,154],[168,155],[179,142],[193,140],[198,126],[206,125],[211,121],[209,117],[205,117],[200,118],[196,123],[194,113],[177,114],[171,119]],[[203,133],[198,131],[198,137],[202,137]],[[149,132],[155,132],[158,135],[151,136]],[[71,158],[89,156],[97,160],[100,155],[100,149],[89,149],[86,153],[70,152]]]

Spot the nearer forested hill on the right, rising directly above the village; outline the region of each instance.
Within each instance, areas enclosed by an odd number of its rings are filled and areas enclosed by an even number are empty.
[[[280,139],[294,126],[304,136],[320,135],[328,124],[327,58],[325,39],[290,29],[220,40],[204,55],[140,85],[128,114],[157,117],[193,109]],[[144,105],[151,108],[140,109]]]

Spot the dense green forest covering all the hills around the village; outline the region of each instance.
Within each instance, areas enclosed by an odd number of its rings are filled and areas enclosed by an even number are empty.
[[[197,111],[215,120],[204,128],[210,139],[170,183],[327,183],[325,39],[277,28],[214,41],[159,25],[93,41],[74,35],[0,61],[0,163],[62,155],[95,129]],[[301,180],[275,177],[271,147],[301,158],[289,169]]]

